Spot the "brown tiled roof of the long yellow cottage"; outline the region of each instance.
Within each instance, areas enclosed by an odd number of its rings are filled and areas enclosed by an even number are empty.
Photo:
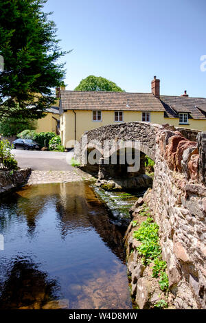
[[[180,112],[191,118],[206,119],[206,98],[161,96],[152,93],[60,91],[62,110],[164,111],[166,118],[179,118]]]

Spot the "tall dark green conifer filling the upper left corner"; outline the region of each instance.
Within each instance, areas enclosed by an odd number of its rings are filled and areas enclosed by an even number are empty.
[[[0,0],[0,117],[41,118],[65,77],[47,0]]]

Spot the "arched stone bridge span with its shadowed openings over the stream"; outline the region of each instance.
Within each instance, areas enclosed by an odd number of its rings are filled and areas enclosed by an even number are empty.
[[[145,175],[144,156],[148,155],[155,161],[155,138],[160,127],[159,124],[148,122],[123,122],[87,131],[80,140],[79,156],[75,157],[78,157],[82,169],[99,179],[114,179],[115,176],[117,179],[125,179]],[[122,166],[121,162],[111,163],[111,156],[119,154],[121,149],[126,150],[126,161],[129,149],[131,155],[139,152],[138,170],[129,170],[129,173],[126,169],[133,169],[132,164]],[[89,160],[89,157],[94,156],[94,159],[98,159],[96,163]]]

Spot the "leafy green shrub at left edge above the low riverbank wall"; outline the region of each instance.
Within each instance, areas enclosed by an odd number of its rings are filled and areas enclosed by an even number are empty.
[[[8,170],[17,170],[18,163],[11,152],[12,146],[8,140],[0,141],[0,166]]]

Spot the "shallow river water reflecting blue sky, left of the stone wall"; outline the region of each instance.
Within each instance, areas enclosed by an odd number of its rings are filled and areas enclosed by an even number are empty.
[[[0,200],[0,309],[131,309],[122,229],[86,182]]]

